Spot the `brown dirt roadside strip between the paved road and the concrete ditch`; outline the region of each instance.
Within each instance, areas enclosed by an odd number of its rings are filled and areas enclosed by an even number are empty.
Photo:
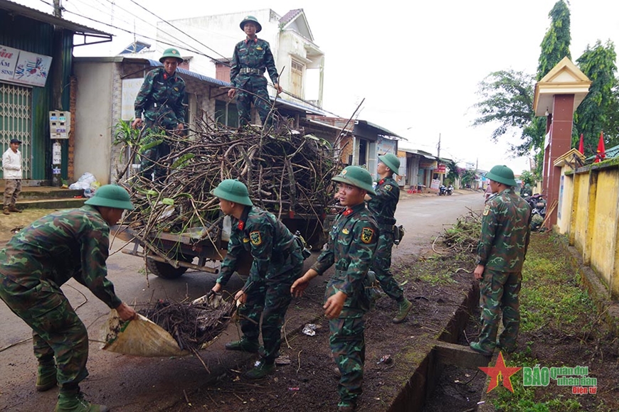
[[[471,287],[470,273],[455,273],[462,266],[465,262],[453,256],[422,260],[409,257],[393,264],[398,281],[404,283],[406,296],[415,306],[406,322],[393,325],[391,318],[397,305],[384,296],[367,316],[364,394],[359,411],[386,410],[406,384],[462,303],[462,290]],[[426,277],[428,273],[430,278]],[[322,294],[295,299],[287,318],[306,310],[322,312],[320,306]],[[290,363],[278,365],[275,374],[250,381],[242,376],[245,369],[228,369],[225,375],[218,376],[216,384],[187,394],[186,402],[179,404],[178,410],[193,411],[196,406],[223,412],[334,410],[339,401],[339,377],[329,350],[328,321],[321,317],[314,324],[318,326],[314,336],[286,331],[280,362]]]

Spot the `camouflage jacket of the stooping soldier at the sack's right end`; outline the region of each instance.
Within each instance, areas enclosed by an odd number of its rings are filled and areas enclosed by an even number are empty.
[[[290,276],[291,269],[303,264],[300,243],[280,220],[259,207],[245,207],[240,219],[232,218],[228,254],[221,263],[218,283],[225,285],[236,270],[242,254],[253,257],[249,278],[243,286],[247,292],[262,281],[277,281]]]

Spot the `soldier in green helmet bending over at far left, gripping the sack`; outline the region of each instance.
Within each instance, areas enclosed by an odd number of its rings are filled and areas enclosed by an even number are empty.
[[[56,412],[108,410],[80,393],[78,384],[88,376],[88,332],[60,286],[75,278],[122,320],[134,318],[107,280],[105,266],[110,225],[132,209],[125,189],[105,185],[83,207],[36,220],[0,251],[0,298],[33,330],[36,390],[60,386]]]

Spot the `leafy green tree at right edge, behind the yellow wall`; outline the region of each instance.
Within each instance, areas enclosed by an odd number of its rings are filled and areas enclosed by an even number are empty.
[[[585,156],[596,153],[601,131],[604,131],[605,142],[611,146],[618,141],[616,60],[615,45],[610,40],[605,45],[598,40],[593,47],[587,46],[576,60],[578,67],[591,80],[589,92],[574,114],[573,146],[583,134]]]

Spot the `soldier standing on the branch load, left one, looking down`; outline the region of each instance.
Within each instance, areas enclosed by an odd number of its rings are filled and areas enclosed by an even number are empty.
[[[132,127],[142,126],[142,113],[144,113],[144,138],[140,141],[142,146],[147,146],[154,141],[162,139],[162,131],[182,132],[185,121],[185,82],[176,73],[176,67],[183,63],[179,50],[169,48],[159,58],[164,67],[157,67],[149,71],[144,78],[135,98],[135,120]],[[157,136],[159,134],[159,136]],[[169,155],[170,146],[165,141],[157,146],[147,147],[140,152],[140,170],[144,177],[150,178],[154,172],[155,178],[162,179],[166,170],[155,163],[159,158]]]

